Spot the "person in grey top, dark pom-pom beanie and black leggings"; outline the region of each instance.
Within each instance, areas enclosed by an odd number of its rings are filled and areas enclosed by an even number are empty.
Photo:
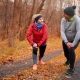
[[[75,48],[80,39],[80,18],[75,15],[76,6],[69,6],[64,9],[64,17],[61,20],[61,36],[64,55],[67,59],[65,65],[70,65],[67,75],[74,73]]]

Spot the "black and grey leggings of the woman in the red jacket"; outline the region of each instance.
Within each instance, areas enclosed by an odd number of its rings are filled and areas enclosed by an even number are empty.
[[[39,60],[43,58],[45,49],[46,49],[46,45],[39,47]],[[33,47],[33,63],[34,64],[37,64],[37,51],[38,51],[38,48]]]

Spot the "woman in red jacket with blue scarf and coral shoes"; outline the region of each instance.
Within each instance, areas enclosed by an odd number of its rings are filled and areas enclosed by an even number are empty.
[[[41,14],[33,15],[33,23],[29,26],[29,29],[26,34],[26,38],[32,46],[33,49],[33,69],[37,69],[37,52],[39,48],[39,63],[45,64],[42,61],[45,49],[46,42],[48,38],[48,27],[44,23],[43,17]]]

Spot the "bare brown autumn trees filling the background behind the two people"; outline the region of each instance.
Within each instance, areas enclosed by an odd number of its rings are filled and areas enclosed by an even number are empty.
[[[79,0],[0,0],[0,42],[6,40],[9,46],[15,40],[25,40],[25,34],[33,14],[41,13],[48,25],[49,36],[60,36],[60,22],[63,9],[76,5],[80,13]]]

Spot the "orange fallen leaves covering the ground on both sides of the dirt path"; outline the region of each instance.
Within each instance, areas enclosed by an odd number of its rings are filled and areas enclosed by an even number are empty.
[[[48,40],[46,54],[55,50],[61,49],[61,38],[51,38]],[[1,65],[7,64],[11,61],[19,61],[24,58],[31,57],[31,47],[27,41],[17,43],[12,48],[3,48],[4,53],[1,53]],[[0,49],[2,50],[2,49]],[[80,46],[76,49],[76,61],[80,59]],[[63,53],[46,62],[45,65],[38,65],[38,70],[25,70],[18,72],[17,75],[12,75],[2,80],[62,80],[62,75],[68,67],[64,66],[65,57]]]

